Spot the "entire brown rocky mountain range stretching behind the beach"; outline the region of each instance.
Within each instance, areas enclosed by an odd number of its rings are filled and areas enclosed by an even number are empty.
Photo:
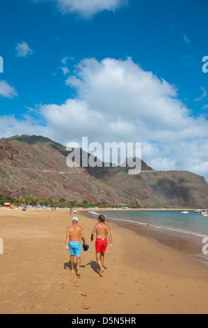
[[[82,149],[72,149],[82,155]],[[15,135],[0,140],[0,192],[3,195],[134,204],[141,207],[206,208],[208,184],[186,171],[155,171],[143,161],[141,173],[129,167],[68,167],[70,151],[47,137]]]

